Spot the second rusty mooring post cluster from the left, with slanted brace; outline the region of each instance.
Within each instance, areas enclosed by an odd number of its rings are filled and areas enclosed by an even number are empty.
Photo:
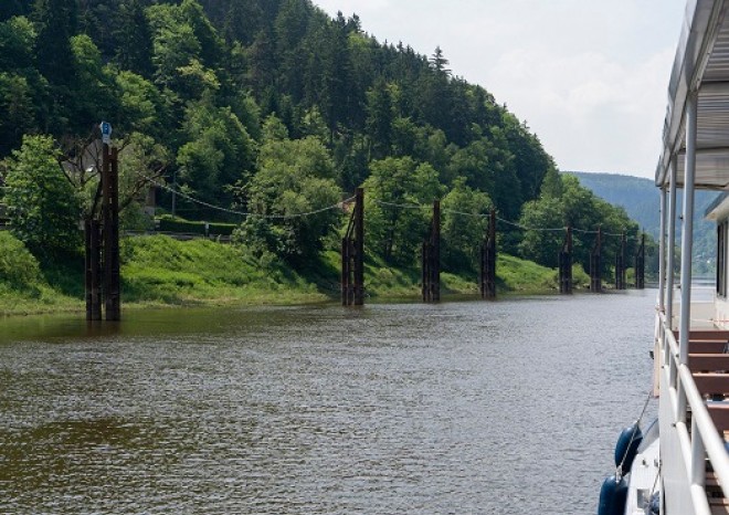
[[[355,209],[341,240],[341,305],[364,304],[364,190],[357,188]]]

